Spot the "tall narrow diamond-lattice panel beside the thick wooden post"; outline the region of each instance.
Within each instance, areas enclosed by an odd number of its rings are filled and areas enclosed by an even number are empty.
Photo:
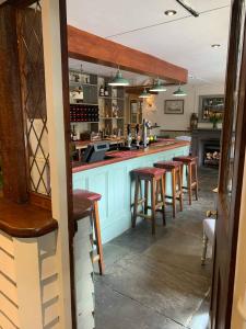
[[[42,7],[17,13],[20,71],[30,189],[50,195]]]

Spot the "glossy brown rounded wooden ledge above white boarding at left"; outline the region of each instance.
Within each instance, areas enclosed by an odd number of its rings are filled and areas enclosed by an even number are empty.
[[[49,211],[0,197],[0,230],[11,237],[36,238],[58,228]]]

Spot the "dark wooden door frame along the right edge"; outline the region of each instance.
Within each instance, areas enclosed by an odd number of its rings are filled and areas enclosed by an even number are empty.
[[[214,241],[214,263],[213,263],[213,283],[212,283],[212,296],[211,296],[211,319],[212,328],[231,328],[232,306],[233,306],[233,293],[234,293],[234,280],[235,280],[235,266],[236,266],[236,252],[237,252],[237,238],[238,238],[238,225],[241,213],[241,197],[244,177],[244,162],[245,162],[245,147],[246,147],[246,29],[244,29],[244,45],[242,61],[239,68],[239,89],[237,95],[237,118],[236,118],[236,132],[235,132],[235,156],[233,164],[233,188],[230,212],[226,209],[226,200],[223,194],[224,182],[226,181],[226,163],[227,151],[230,148],[231,134],[229,129],[232,124],[233,113],[230,111],[234,106],[234,89],[236,83],[236,68],[237,68],[237,37],[241,31],[241,24],[238,24],[238,15],[241,12],[242,0],[232,1],[232,16],[231,16],[231,32],[229,38],[229,55],[227,55],[227,71],[226,71],[226,88],[225,88],[225,112],[224,123],[222,129],[222,157],[219,173],[219,193],[218,193],[218,213],[219,218],[216,227],[224,229],[227,235],[227,248],[220,253],[221,260],[226,263],[227,282],[226,286],[223,286],[226,297],[224,298],[223,306],[219,305],[218,291],[219,285],[219,265],[218,265],[218,242],[216,235]],[[237,37],[235,37],[235,35]],[[227,218],[222,223],[224,218]],[[220,290],[220,288],[219,288]],[[226,290],[226,291],[225,291]],[[222,314],[223,327],[218,324],[218,319]],[[214,327],[215,326],[215,327]]]

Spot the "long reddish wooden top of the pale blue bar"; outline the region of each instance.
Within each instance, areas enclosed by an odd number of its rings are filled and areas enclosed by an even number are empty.
[[[144,157],[152,154],[162,152],[169,149],[175,149],[183,146],[189,146],[189,141],[185,140],[177,140],[177,139],[161,139],[157,143],[152,144],[151,146],[147,148],[140,148],[134,150],[125,150],[125,151],[109,151],[107,152],[107,159],[98,162],[92,162],[92,163],[81,163],[79,161],[74,161],[72,163],[72,172],[80,172],[83,170],[89,170],[93,168],[98,168],[120,161],[126,161],[139,157]]]

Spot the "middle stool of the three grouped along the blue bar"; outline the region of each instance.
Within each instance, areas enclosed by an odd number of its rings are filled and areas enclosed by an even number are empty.
[[[154,167],[165,169],[166,172],[172,174],[172,198],[173,217],[176,217],[176,200],[179,200],[180,211],[183,211],[183,163],[179,161],[160,161],[154,163]],[[177,189],[178,185],[178,189]]]

